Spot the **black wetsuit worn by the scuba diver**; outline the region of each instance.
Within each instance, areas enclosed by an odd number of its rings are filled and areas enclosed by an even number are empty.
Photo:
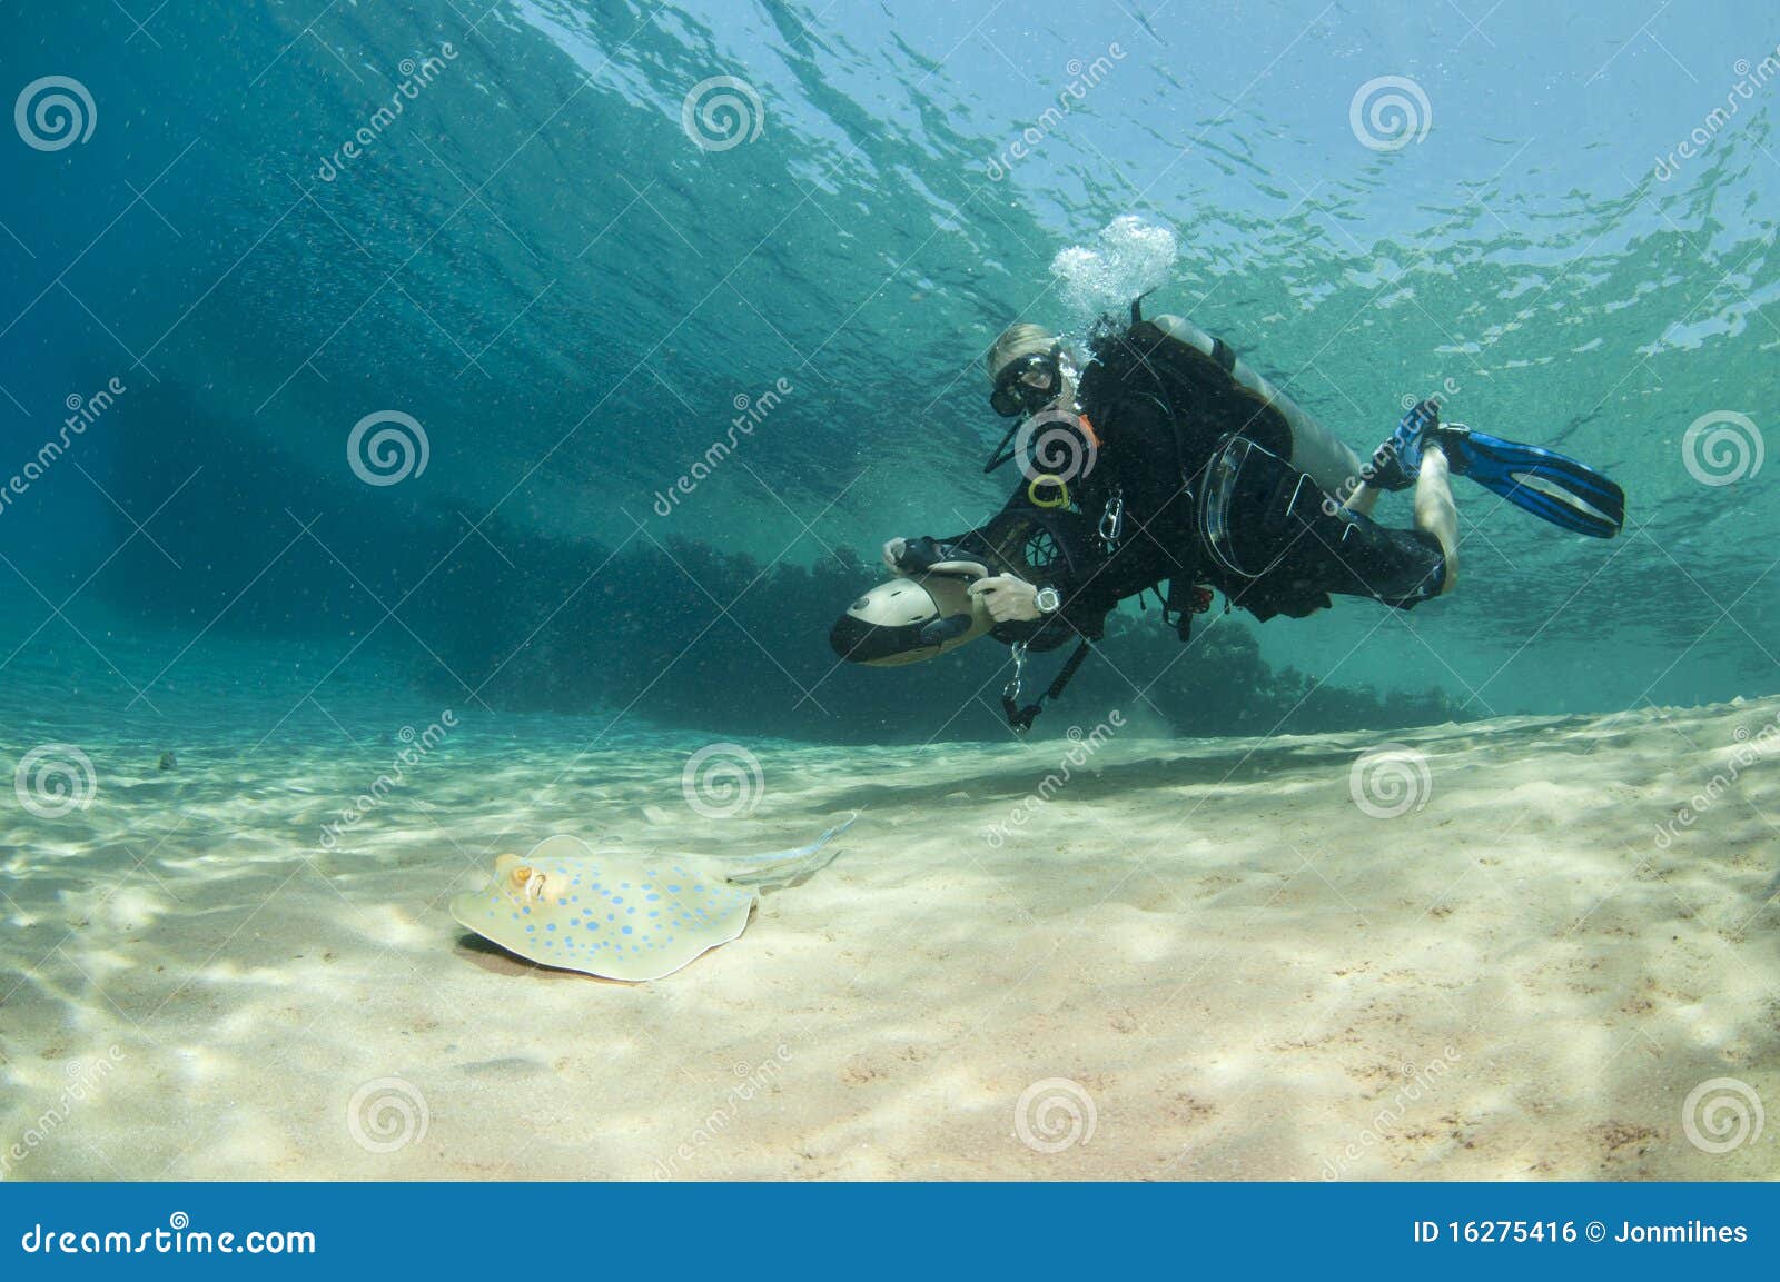
[[[1392,530],[1342,510],[1292,468],[1292,434],[1280,411],[1228,377],[1223,347],[1205,356],[1139,320],[1095,341],[1077,404],[1096,437],[1093,466],[1070,480],[1072,512],[1032,507],[1027,480],[983,530],[947,542],[991,544],[1015,573],[1063,596],[1057,617],[1002,626],[1002,640],[1045,649],[1072,633],[1098,638],[1105,615],[1145,590],[1171,592],[1185,608],[1189,590],[1216,587],[1258,619],[1294,619],[1331,605],[1330,594],[1365,596],[1410,608],[1440,590],[1444,557],[1420,530]],[[1221,368],[1219,368],[1221,366]],[[1228,478],[1219,514],[1223,557],[1207,546],[1207,491],[1214,464],[1234,439],[1242,468]],[[1112,530],[1112,512],[1123,509]],[[1068,555],[1034,565],[1007,555],[1006,532],[1038,525]],[[1111,541],[1102,533],[1112,533]],[[1018,539],[1015,539],[1018,542]],[[1228,564],[1230,553],[1248,573]]]

